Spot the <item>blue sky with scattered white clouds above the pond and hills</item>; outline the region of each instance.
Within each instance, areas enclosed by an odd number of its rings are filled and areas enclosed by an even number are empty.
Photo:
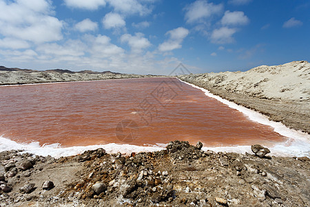
[[[310,1],[0,0],[0,65],[169,74],[310,57]]]

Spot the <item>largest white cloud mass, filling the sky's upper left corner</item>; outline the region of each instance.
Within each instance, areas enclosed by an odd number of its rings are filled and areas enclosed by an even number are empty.
[[[33,7],[32,7],[33,6]],[[63,38],[63,22],[50,16],[50,1],[0,1],[0,34],[4,37],[43,43]]]

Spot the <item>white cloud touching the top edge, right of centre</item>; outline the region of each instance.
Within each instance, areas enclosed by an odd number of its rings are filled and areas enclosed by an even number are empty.
[[[205,0],[198,0],[190,4],[185,14],[185,20],[187,23],[193,23],[201,21],[214,14],[220,14],[223,11],[223,4],[208,3]]]

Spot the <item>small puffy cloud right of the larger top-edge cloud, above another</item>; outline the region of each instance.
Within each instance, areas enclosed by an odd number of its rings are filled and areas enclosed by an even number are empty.
[[[249,23],[249,18],[245,16],[244,12],[226,11],[220,22],[225,26],[246,25]]]

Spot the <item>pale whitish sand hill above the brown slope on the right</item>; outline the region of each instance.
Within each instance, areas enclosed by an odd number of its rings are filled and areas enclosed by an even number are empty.
[[[307,61],[259,66],[246,72],[211,72],[203,76],[215,87],[254,97],[292,101],[310,99],[310,63]]]

